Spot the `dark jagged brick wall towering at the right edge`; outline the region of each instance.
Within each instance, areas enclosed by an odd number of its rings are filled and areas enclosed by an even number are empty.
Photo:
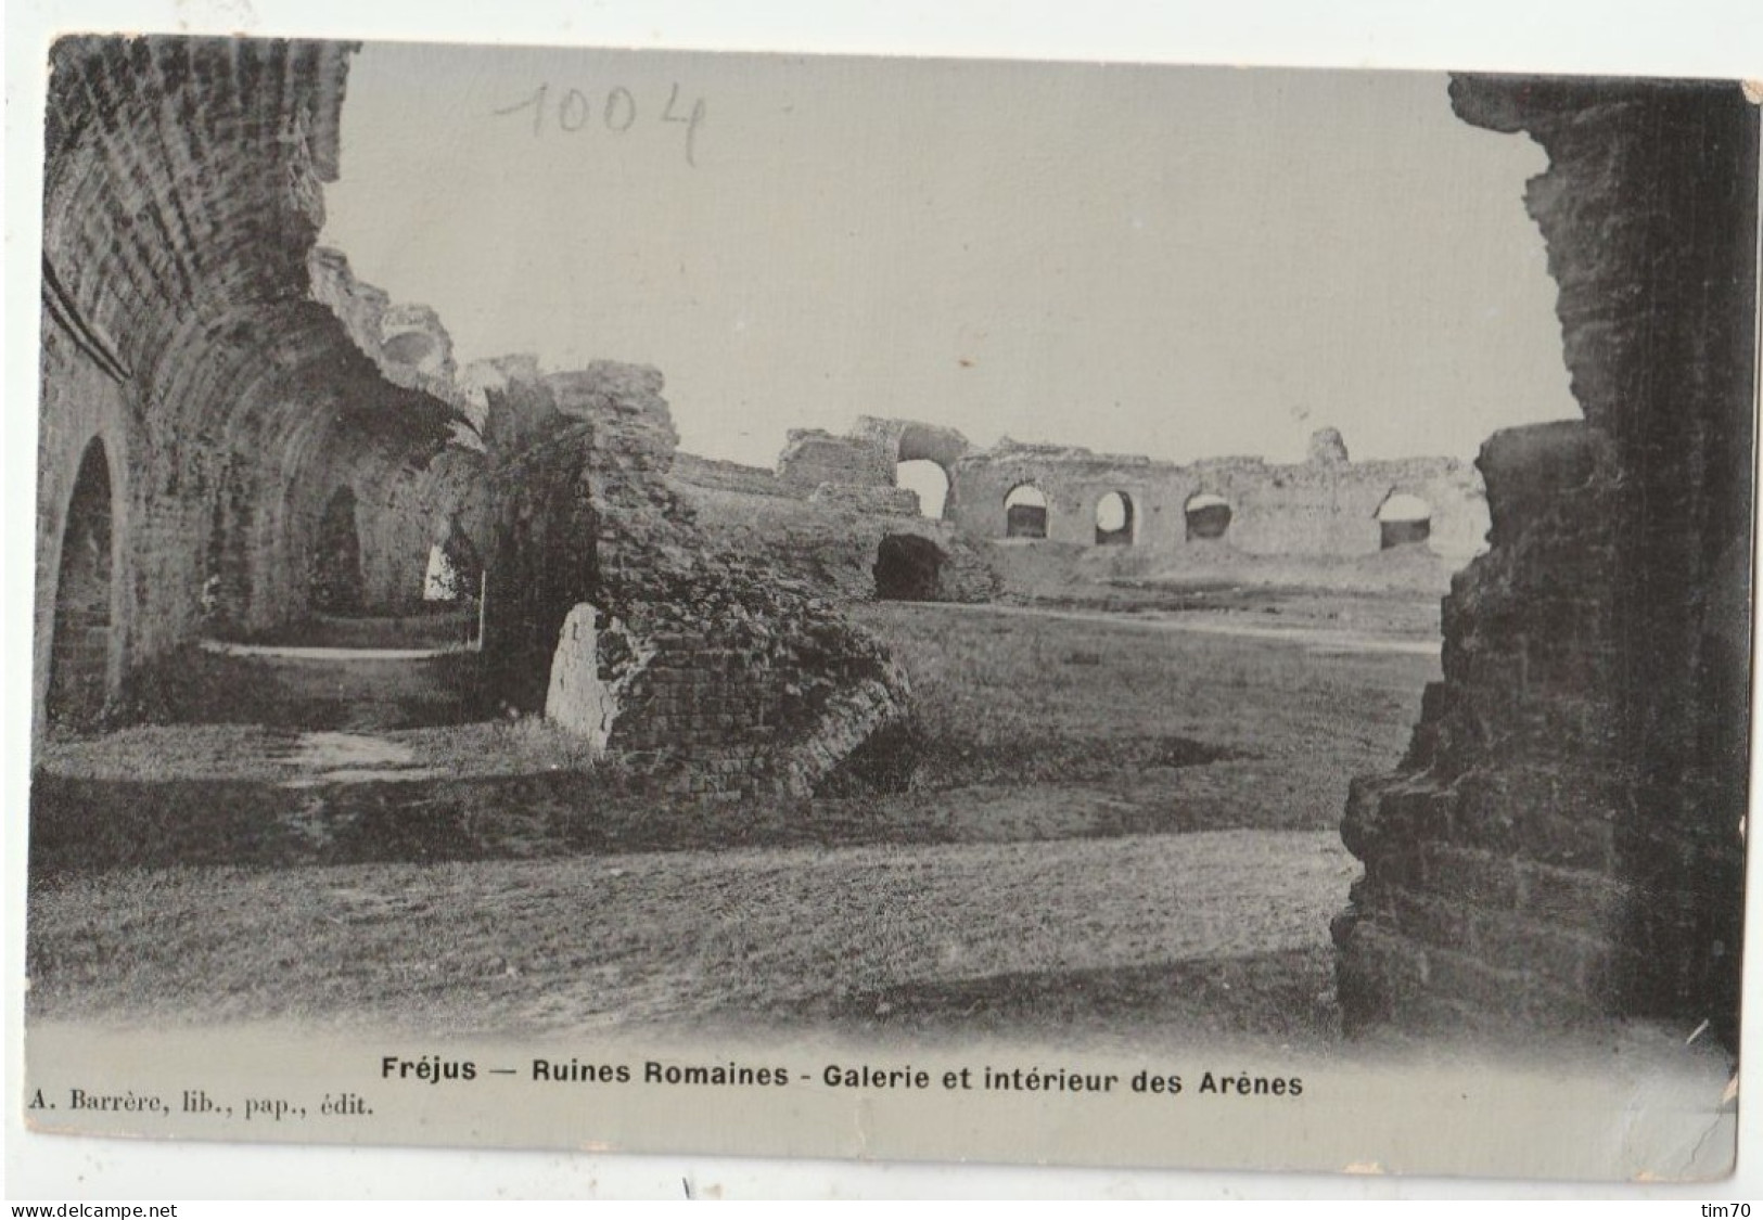
[[[1400,774],[1356,785],[1349,1024],[1707,1019],[1737,1045],[1758,109],[1737,85],[1458,78],[1529,132],[1583,425],[1483,450]]]

